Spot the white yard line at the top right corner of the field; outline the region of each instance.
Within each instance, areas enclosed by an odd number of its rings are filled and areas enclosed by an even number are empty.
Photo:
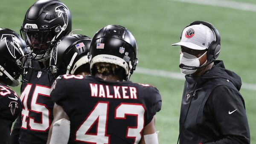
[[[231,0],[169,0],[177,1],[182,3],[195,3],[207,6],[218,6],[231,9],[239,9],[244,11],[256,12],[256,4],[253,3],[242,3]]]

